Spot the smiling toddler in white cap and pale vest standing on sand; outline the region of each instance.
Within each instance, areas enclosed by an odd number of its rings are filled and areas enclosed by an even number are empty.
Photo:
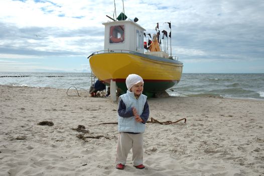
[[[143,165],[143,133],[149,119],[150,110],[147,96],[143,95],[144,81],[137,74],[129,74],[125,79],[126,94],[119,97],[118,132],[119,138],[116,152],[116,168],[124,169],[127,155],[132,148],[133,165]]]

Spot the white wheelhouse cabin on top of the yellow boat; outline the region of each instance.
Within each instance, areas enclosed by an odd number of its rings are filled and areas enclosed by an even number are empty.
[[[144,28],[131,20],[103,23],[104,50],[129,50],[144,53]]]

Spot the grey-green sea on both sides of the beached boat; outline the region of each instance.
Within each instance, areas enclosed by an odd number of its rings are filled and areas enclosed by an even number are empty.
[[[0,85],[54,87],[75,86],[89,90],[91,73],[0,72]],[[264,100],[264,73],[183,73],[181,81],[167,90],[171,96],[216,96]]]

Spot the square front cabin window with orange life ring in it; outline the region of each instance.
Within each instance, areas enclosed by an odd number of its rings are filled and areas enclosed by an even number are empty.
[[[124,42],[124,25],[110,27],[109,42],[110,43]]]

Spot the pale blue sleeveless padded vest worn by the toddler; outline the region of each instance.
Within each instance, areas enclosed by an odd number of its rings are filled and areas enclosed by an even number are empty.
[[[138,100],[134,96],[133,92],[127,90],[126,94],[119,97],[119,102],[122,101],[125,104],[126,109],[135,107],[138,114],[141,116],[144,110],[144,105],[147,101],[147,96],[141,94]],[[145,132],[145,124],[137,122],[135,116],[132,117],[120,117],[118,116],[118,131],[119,132],[133,132],[133,133],[143,133]]]

